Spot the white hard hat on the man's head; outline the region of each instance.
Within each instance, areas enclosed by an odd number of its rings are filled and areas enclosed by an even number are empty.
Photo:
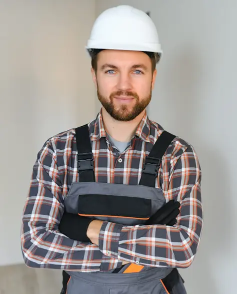
[[[120,5],[102,12],[87,41],[93,49],[146,51],[162,55],[158,34],[150,17],[131,6]]]

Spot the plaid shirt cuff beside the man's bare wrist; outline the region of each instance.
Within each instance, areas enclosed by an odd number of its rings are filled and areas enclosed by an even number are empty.
[[[121,224],[113,222],[104,221],[102,223],[99,232],[98,247],[104,255],[117,259],[118,242],[122,227]]]

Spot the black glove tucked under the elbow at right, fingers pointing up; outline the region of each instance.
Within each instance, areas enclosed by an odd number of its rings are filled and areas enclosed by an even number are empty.
[[[165,224],[173,226],[176,223],[176,217],[179,214],[179,202],[174,200],[168,201],[160,209],[158,209],[145,224]]]

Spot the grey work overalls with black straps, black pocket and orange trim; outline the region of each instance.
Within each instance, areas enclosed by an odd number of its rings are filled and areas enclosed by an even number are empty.
[[[75,129],[79,182],[65,198],[65,211],[123,225],[145,224],[165,204],[155,178],[175,136],[163,132],[145,159],[139,185],[98,183],[87,125]],[[186,294],[176,268],[126,264],[108,272],[66,271],[67,294]]]

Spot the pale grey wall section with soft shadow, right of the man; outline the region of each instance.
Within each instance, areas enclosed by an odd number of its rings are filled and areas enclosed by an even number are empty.
[[[150,118],[196,149],[204,227],[193,264],[180,270],[188,294],[236,292],[236,0],[100,0],[150,11],[163,59]],[[96,105],[98,107],[98,104]]]

